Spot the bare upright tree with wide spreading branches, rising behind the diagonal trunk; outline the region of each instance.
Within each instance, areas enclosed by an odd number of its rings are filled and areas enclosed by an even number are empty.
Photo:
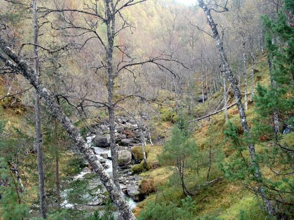
[[[101,57],[100,60],[96,60],[96,66],[94,69],[106,73],[107,81],[105,86],[107,87],[107,101],[103,102],[103,105],[108,109],[108,123],[109,123],[109,134],[110,134],[110,149],[112,155],[112,166],[113,166],[113,179],[117,187],[118,183],[118,155],[116,150],[115,141],[115,108],[118,102],[115,102],[115,79],[121,72],[129,72],[134,75],[132,68],[134,66],[140,66],[146,63],[153,63],[157,65],[160,70],[164,70],[169,73],[173,73],[169,68],[165,67],[162,62],[175,61],[170,59],[167,55],[158,55],[150,57],[146,60],[139,60],[138,58],[132,57],[128,48],[124,45],[116,45],[115,38],[124,30],[133,28],[132,24],[123,17],[122,10],[128,6],[135,5],[145,0],[127,0],[127,1],[115,1],[115,0],[103,0],[103,1],[91,1],[89,4],[85,4],[85,8],[80,10],[76,8],[59,8],[56,5],[56,9],[52,8],[41,8],[43,16],[47,16],[51,13],[61,13],[65,25],[64,27],[54,26],[56,30],[68,31],[75,29],[78,34],[76,36],[87,36],[81,47],[84,47],[91,40],[96,40],[101,46],[102,53],[97,57]],[[67,14],[69,13],[67,18]],[[72,15],[79,14],[83,15],[84,23],[75,22],[71,19]],[[101,25],[106,26],[106,33],[99,33]],[[120,52],[121,58],[118,62],[115,61],[115,53]],[[174,74],[174,73],[173,73]]]

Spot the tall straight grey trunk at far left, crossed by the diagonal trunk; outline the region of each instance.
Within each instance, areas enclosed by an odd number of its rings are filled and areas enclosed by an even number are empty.
[[[37,0],[33,0],[33,16],[34,16],[34,72],[36,77],[39,77],[39,53],[38,53],[38,15],[37,15]],[[45,202],[45,180],[43,169],[43,143],[41,132],[41,112],[40,112],[40,98],[39,93],[35,93],[35,133],[36,133],[36,147],[37,147],[37,161],[38,161],[38,175],[39,175],[39,200],[40,200],[40,214],[43,219],[46,219],[46,202]]]

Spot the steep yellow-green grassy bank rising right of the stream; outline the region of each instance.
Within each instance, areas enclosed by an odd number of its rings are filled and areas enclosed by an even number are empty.
[[[258,63],[255,65],[255,86],[257,83],[262,85],[268,85],[270,83],[269,69],[265,57],[259,58]],[[244,91],[242,86],[241,91]],[[250,91],[250,87],[248,91]],[[200,116],[205,115],[211,109],[210,106],[218,104],[217,102],[222,98],[221,95],[221,92],[216,92],[205,104],[197,105],[195,114]],[[234,98],[230,94],[229,104],[233,102]],[[167,116],[170,119],[175,118],[175,116],[170,116],[167,112],[171,111],[166,108],[161,110],[161,118],[166,119]],[[252,125],[252,119],[255,116],[254,103],[249,104],[249,109],[246,113],[249,125]],[[228,110],[228,114],[229,120],[242,132],[236,107]],[[157,127],[159,133],[165,132],[167,123],[165,122],[164,125]],[[219,218],[229,220],[237,219],[240,215],[243,218],[255,220],[266,218],[260,205],[261,201],[247,190],[242,183],[229,181],[223,177],[223,172],[219,168],[219,162],[225,158],[230,158],[232,154],[232,149],[229,147],[229,144],[224,141],[223,128],[226,126],[224,113],[220,112],[196,122],[194,126],[195,131],[193,137],[196,139],[199,155],[203,158],[197,171],[187,171],[186,173],[187,187],[194,192],[193,200],[195,201],[195,205],[193,212],[196,213],[195,219]],[[162,129],[160,130],[158,128]],[[285,135],[285,141],[291,142],[291,140],[293,140],[292,133]],[[261,145],[256,145],[256,151],[261,152],[264,146],[267,146],[266,142],[263,142]],[[162,146],[151,147],[147,160],[153,160],[153,163],[156,163],[156,158],[161,150]],[[207,178],[209,158],[211,158],[212,163],[209,178]],[[197,166],[197,162],[195,166]],[[262,169],[265,176],[271,175],[265,167],[262,167]],[[171,201],[177,207],[181,206],[180,201],[185,196],[183,195],[180,183],[173,175],[174,170],[174,167],[162,165],[140,174],[150,185],[147,187],[142,182],[141,187],[144,191],[149,190],[150,194],[147,199],[139,203],[136,209],[136,215],[139,219],[141,218],[140,212],[150,207],[151,203]],[[217,179],[219,177],[222,178]],[[213,181],[216,179],[217,181]],[[213,182],[209,183],[210,181]]]

